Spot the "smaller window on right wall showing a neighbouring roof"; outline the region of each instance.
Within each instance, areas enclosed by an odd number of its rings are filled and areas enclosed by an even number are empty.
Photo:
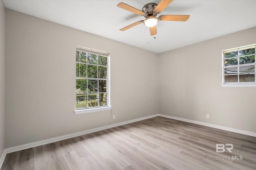
[[[256,84],[255,45],[224,50],[222,84]]]

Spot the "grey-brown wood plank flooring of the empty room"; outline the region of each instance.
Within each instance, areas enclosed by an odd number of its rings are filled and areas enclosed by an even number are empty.
[[[231,143],[232,153],[216,153]],[[207,159],[212,156],[214,159]],[[216,156],[216,157],[214,157]],[[220,159],[242,156],[242,160]],[[209,158],[209,157],[208,157]],[[219,158],[219,159],[218,159]],[[256,170],[256,137],[154,117],[6,155],[1,170]]]

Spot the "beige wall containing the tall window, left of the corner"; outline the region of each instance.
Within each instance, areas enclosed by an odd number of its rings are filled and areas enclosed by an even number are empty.
[[[76,45],[110,52],[115,120],[75,115]],[[6,9],[6,147],[157,114],[156,63],[156,53]]]

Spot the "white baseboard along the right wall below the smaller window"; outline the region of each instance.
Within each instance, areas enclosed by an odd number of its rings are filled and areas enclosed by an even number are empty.
[[[180,117],[174,117],[174,116],[168,116],[168,115],[162,115],[162,114],[158,114],[158,116],[166,117],[166,118],[170,118],[170,119],[176,119],[176,120],[180,120],[180,121],[186,121],[186,122],[195,123],[195,124],[198,124],[198,125],[214,127],[216,129],[222,129],[222,130],[225,130],[225,131],[241,133],[241,134],[244,134],[244,135],[249,135],[249,136],[256,137],[256,133],[255,132],[244,131],[244,130],[240,130],[240,129],[234,129],[234,128],[231,128],[231,127],[214,125],[214,124],[210,124],[210,123],[204,123],[204,122],[201,122],[201,121],[194,121],[194,120],[190,120],[190,119],[184,119],[184,118],[180,118]]]

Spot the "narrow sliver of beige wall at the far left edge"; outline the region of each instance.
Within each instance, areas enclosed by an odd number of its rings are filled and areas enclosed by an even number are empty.
[[[5,149],[4,135],[4,58],[5,58],[5,8],[0,0],[0,156]]]

